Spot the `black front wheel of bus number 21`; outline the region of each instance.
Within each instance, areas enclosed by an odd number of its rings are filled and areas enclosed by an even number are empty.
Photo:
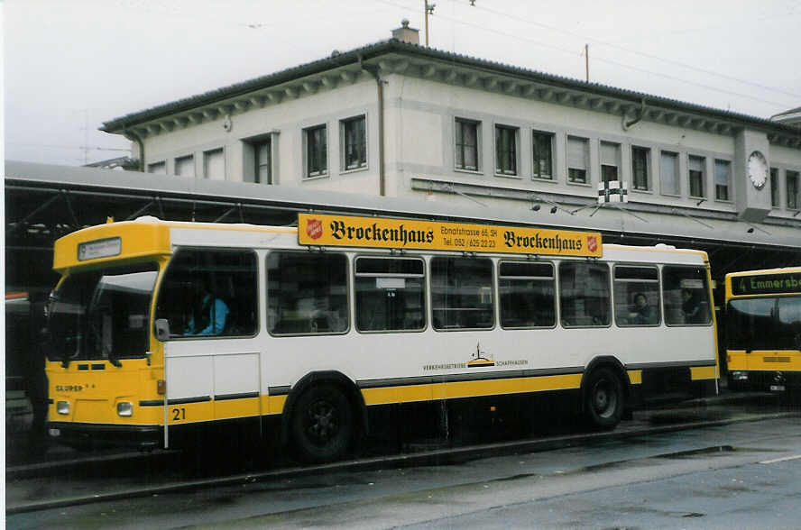
[[[293,407],[290,430],[300,460],[338,460],[353,441],[353,408],[339,388],[315,385],[303,392]]]

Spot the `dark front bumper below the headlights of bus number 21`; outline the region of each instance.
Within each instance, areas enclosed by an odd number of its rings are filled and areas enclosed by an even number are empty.
[[[161,447],[163,436],[159,425],[49,422],[47,428],[54,441],[78,448],[114,446],[151,450]]]

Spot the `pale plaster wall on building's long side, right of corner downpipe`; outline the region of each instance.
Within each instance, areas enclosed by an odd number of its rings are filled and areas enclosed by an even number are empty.
[[[419,195],[410,188],[414,177],[443,178],[448,181],[479,183],[486,186],[514,187],[522,190],[553,192],[571,196],[594,197],[600,181],[600,142],[620,144],[621,179],[630,183],[631,146],[650,149],[649,192],[631,191],[631,201],[665,206],[695,206],[689,197],[687,156],[706,160],[704,208],[731,212],[733,201],[715,201],[714,160],[733,161],[734,138],[723,134],[703,133],[677,126],[642,121],[628,132],[621,127],[621,117],[557,103],[546,103],[517,96],[507,96],[483,88],[456,87],[436,81],[392,75],[387,78],[385,99],[388,144],[391,156],[388,172],[395,178],[398,195]],[[476,173],[454,167],[455,117],[481,122],[480,159],[482,168]],[[437,129],[438,123],[438,129]],[[520,128],[518,143],[518,176],[508,178],[494,174],[494,125]],[[554,181],[531,179],[531,131],[554,134]],[[389,137],[394,135],[394,139]],[[589,140],[589,185],[567,183],[566,137]],[[435,149],[442,151],[437,153]],[[660,151],[679,154],[679,196],[659,192]]]

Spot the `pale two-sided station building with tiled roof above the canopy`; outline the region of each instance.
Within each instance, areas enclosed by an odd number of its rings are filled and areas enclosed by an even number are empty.
[[[152,173],[452,201],[652,241],[801,244],[797,127],[428,49],[406,24],[103,130]],[[598,207],[615,181],[628,203]]]

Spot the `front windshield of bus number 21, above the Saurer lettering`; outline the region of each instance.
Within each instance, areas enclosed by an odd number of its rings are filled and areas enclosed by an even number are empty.
[[[51,361],[144,357],[155,263],[73,272],[53,293]]]

